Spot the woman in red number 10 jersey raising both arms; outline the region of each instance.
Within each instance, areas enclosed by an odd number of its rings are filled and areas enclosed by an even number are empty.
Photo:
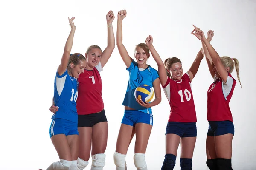
[[[212,40],[209,35],[208,41]],[[161,170],[173,170],[177,149],[181,143],[180,167],[192,170],[192,156],[195,148],[197,129],[196,112],[191,90],[191,82],[204,57],[201,49],[189,71],[183,75],[180,59],[176,57],[162,61],[153,46],[153,38],[146,39],[148,48],[157,62],[160,83],[171,106],[171,113],[166,127],[166,155]],[[167,74],[167,75],[166,75]]]

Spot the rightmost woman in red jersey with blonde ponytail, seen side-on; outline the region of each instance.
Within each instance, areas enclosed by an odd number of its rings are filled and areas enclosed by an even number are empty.
[[[192,34],[202,42],[209,71],[214,79],[207,91],[209,129],[206,139],[206,164],[210,170],[232,170],[232,140],[235,130],[229,102],[236,85],[236,80],[231,76],[234,68],[241,85],[239,62],[236,58],[220,57],[205,39],[204,32],[195,26],[194,28]]]

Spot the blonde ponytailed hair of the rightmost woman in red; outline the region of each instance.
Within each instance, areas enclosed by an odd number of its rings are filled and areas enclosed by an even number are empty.
[[[236,75],[238,78],[238,81],[242,87],[241,81],[240,81],[240,77],[239,77],[239,62],[236,58],[230,58],[227,56],[223,56],[220,57],[221,58],[221,63],[224,65],[225,68],[229,67],[229,73],[232,73],[232,71],[234,70],[234,66],[236,68]]]

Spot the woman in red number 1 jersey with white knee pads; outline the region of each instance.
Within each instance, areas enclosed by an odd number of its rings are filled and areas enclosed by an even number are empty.
[[[78,78],[78,131],[79,131],[79,155],[77,169],[83,170],[92,158],[91,170],[102,170],[105,165],[105,150],[108,139],[108,123],[105,116],[102,99],[102,80],[100,72],[108,62],[114,47],[115,37],[112,22],[113,11],[107,14],[108,46],[102,52],[98,45],[91,45],[86,53],[87,66],[84,73]],[[50,110],[57,111],[57,106],[52,105]],[[91,150],[92,147],[92,150]]]

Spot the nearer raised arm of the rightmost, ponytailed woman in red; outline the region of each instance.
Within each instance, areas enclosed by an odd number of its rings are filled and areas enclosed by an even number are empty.
[[[195,27],[197,28],[197,27]],[[223,79],[224,82],[227,82],[227,70],[225,69],[224,65],[221,63],[221,58],[218,55],[217,51],[212,47],[212,45],[207,41],[207,39],[204,36],[203,31],[198,31],[195,33],[196,37],[204,42],[207,51],[209,52],[212,62],[215,65],[216,70],[218,71],[218,74],[220,75],[220,78]]]

